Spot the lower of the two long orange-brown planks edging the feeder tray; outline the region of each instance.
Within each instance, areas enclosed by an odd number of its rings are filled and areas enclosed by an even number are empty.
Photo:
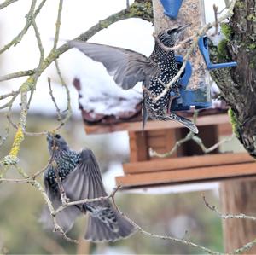
[[[219,180],[228,177],[246,177],[251,175],[256,175],[255,162],[236,165],[232,164],[189,168],[179,171],[159,171],[133,174],[125,177],[116,177],[116,183],[124,188],[145,187],[166,183],[197,183],[207,180]]]

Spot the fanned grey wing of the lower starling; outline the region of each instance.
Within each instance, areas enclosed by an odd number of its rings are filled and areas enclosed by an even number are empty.
[[[75,201],[106,196],[100,168],[93,152],[84,149],[81,158],[76,168],[62,182],[67,197]]]

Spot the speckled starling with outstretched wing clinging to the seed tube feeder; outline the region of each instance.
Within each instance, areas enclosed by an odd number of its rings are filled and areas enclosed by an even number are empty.
[[[124,90],[133,88],[137,82],[143,82],[143,128],[148,117],[160,120],[173,119],[198,133],[193,122],[170,111],[172,100],[179,93],[178,81],[172,84],[160,100],[154,100],[154,97],[159,96],[165,89],[165,84],[168,84],[178,72],[174,50],[166,47],[173,47],[189,25],[160,32],[155,38],[154,50],[149,57],[130,49],[96,43],[70,41],[69,45],[79,49],[92,60],[102,62],[115,83]]]

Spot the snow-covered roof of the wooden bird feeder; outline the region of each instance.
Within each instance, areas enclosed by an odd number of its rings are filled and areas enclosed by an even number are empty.
[[[116,84],[92,84],[83,79],[74,78],[73,85],[79,91],[79,108],[84,124],[117,124],[121,122],[141,121],[142,85],[134,90],[122,90]],[[213,86],[212,94],[218,90]],[[201,115],[224,113],[227,106],[224,101],[212,101],[212,108],[201,110]],[[180,112],[191,116],[192,111]]]

